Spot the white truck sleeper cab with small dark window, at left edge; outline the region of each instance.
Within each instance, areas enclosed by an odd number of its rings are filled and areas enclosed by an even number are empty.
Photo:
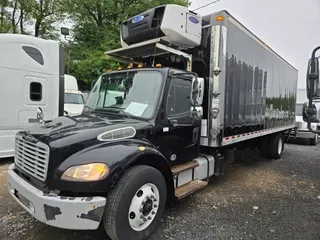
[[[17,131],[63,115],[64,53],[56,41],[0,34],[0,158],[13,156]]]

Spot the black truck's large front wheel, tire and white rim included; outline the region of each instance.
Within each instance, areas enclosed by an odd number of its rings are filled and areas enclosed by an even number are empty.
[[[147,239],[160,224],[167,198],[166,182],[155,168],[131,167],[108,194],[104,228],[112,240]]]

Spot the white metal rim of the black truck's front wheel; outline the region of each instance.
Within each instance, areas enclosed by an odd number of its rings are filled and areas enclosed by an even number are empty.
[[[147,183],[138,189],[131,200],[128,219],[131,228],[143,231],[154,220],[159,209],[160,194],[158,188]]]

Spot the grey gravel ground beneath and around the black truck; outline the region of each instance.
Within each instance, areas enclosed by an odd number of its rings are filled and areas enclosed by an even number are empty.
[[[225,176],[169,206],[151,240],[320,239],[320,145],[287,144],[282,159],[241,154]],[[108,239],[103,230],[67,231],[31,218],[8,196],[0,163],[0,239]]]

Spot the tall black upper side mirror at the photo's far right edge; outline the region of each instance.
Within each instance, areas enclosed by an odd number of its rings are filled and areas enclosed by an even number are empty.
[[[312,56],[307,69],[307,97],[310,100],[320,98],[320,63],[319,57]]]

